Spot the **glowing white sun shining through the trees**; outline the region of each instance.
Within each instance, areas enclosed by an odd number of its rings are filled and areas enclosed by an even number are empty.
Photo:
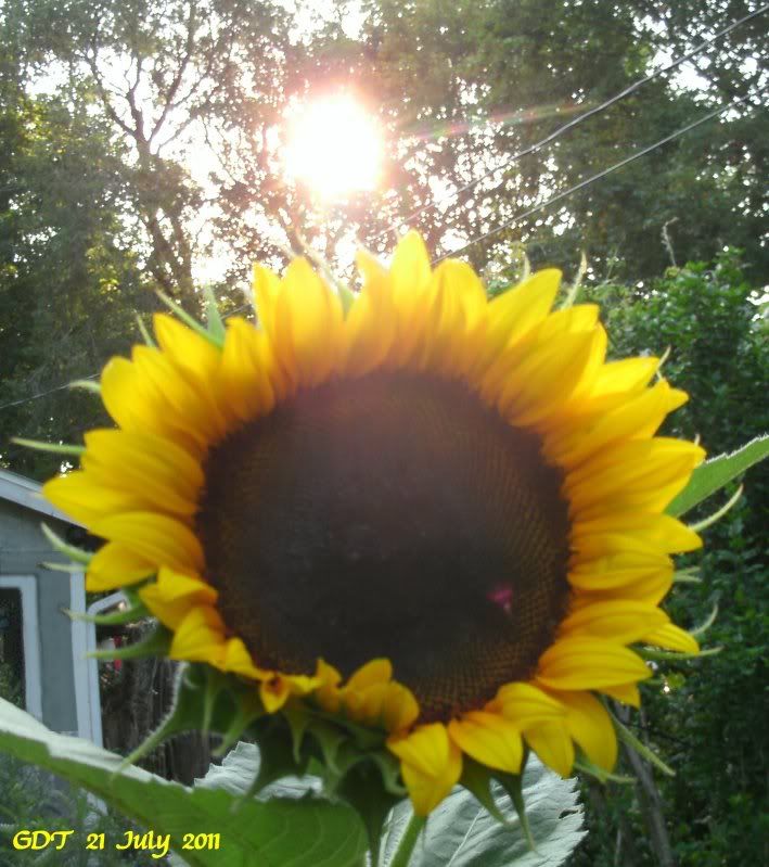
[[[286,122],[286,174],[323,199],[372,190],[380,178],[382,138],[374,118],[346,94],[297,105]]]

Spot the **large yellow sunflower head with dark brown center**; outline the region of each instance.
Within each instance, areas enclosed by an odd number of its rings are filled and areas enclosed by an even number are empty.
[[[106,540],[88,589],[138,585],[174,659],[270,714],[384,732],[420,815],[463,764],[610,770],[630,646],[697,650],[659,608],[701,545],[664,510],[703,450],[654,435],[687,397],[605,361],[595,306],[551,311],[556,270],[489,301],[413,232],[358,266],[346,305],[303,258],[257,267],[258,328],[157,315],[107,364],[117,426],[43,489]]]

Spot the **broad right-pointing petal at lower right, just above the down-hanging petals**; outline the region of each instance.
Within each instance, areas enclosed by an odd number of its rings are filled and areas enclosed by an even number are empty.
[[[632,651],[601,638],[560,639],[539,659],[537,679],[557,690],[601,689],[652,676]]]

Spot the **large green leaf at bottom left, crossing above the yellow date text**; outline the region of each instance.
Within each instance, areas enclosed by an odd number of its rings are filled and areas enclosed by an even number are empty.
[[[345,804],[315,798],[235,798],[221,787],[187,788],[146,770],[118,770],[120,756],[50,731],[0,699],[0,750],[88,789],[157,833],[190,867],[363,867],[366,830]],[[185,833],[218,833],[219,850],[181,851]]]

